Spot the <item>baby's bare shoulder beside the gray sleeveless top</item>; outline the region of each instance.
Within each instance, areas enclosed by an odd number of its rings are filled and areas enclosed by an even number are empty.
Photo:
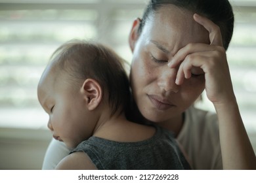
[[[85,152],[74,152],[58,163],[57,170],[96,170],[97,168],[85,154]]]

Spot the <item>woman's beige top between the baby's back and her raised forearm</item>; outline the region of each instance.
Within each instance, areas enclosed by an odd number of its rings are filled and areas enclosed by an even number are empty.
[[[188,108],[177,141],[184,148],[192,169],[223,169],[219,125],[215,113]]]

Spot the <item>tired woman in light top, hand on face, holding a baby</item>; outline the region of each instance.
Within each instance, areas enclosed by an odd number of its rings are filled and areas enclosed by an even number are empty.
[[[227,0],[152,0],[129,36],[133,120],[173,131],[194,169],[255,169],[226,61],[233,26]],[[192,106],[204,89],[217,115]]]

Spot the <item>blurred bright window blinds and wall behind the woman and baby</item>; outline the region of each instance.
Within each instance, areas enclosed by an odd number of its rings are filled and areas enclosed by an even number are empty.
[[[37,83],[54,50],[70,39],[94,39],[131,61],[129,31],[146,2],[0,0],[0,169],[41,169],[52,136]],[[230,3],[236,22],[227,57],[256,152],[256,0]],[[205,94],[197,105],[214,110]]]

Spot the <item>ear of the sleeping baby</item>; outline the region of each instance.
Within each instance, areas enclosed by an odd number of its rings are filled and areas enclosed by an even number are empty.
[[[84,96],[89,110],[94,110],[102,100],[102,89],[100,84],[91,78],[83,82],[80,92]]]

